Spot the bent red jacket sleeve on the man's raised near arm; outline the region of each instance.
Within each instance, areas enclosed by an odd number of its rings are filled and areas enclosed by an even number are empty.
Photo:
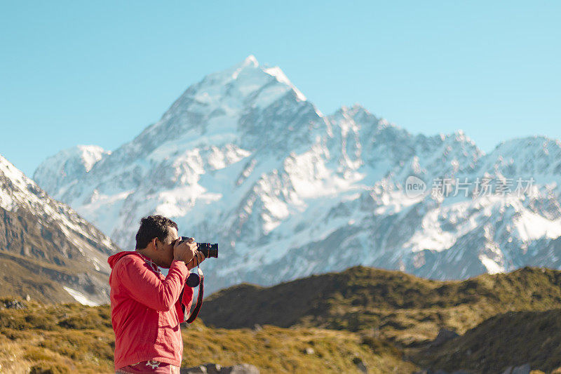
[[[144,261],[140,262],[131,256],[119,261],[118,266],[117,276],[121,287],[126,288],[137,302],[158,312],[169,310],[175,305],[189,273],[184,262],[175,260],[164,280],[151,271]]]

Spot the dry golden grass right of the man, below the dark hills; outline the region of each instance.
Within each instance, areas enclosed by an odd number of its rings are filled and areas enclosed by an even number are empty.
[[[201,344],[203,343],[203,344]],[[402,361],[393,346],[348,331],[320,328],[259,330],[208,328],[203,323],[184,333],[184,366],[203,362],[224,365],[247,362],[264,373],[360,373],[354,361],[363,361],[372,373],[411,373],[416,366]],[[312,354],[306,354],[312,349]],[[311,351],[309,351],[311,352]]]

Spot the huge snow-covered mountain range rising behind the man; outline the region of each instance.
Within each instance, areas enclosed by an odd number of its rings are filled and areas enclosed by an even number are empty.
[[[558,140],[484,154],[462,131],[413,135],[360,105],[326,116],[253,56],[189,87],[114,152],[95,148],[95,163],[83,149],[34,178],[122,248],[154,213],[218,242],[212,289],[353,265],[436,279],[561,267]]]

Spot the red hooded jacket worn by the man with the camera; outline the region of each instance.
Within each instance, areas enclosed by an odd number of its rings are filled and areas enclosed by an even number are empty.
[[[189,275],[185,263],[173,261],[168,276],[163,276],[136,251],[119,252],[107,262],[115,369],[148,360],[181,366],[182,304],[189,312],[193,301],[193,288],[184,286]]]

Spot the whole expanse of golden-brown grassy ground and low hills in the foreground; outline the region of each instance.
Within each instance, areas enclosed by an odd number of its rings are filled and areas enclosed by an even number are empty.
[[[447,282],[355,267],[271,288],[236,286],[205,301],[206,326],[184,326],[182,366],[501,373],[529,363],[551,373],[561,366],[560,281],[561,272],[529,267]],[[1,373],[112,372],[109,306],[12,300],[0,299]],[[440,328],[461,335],[437,345]]]

